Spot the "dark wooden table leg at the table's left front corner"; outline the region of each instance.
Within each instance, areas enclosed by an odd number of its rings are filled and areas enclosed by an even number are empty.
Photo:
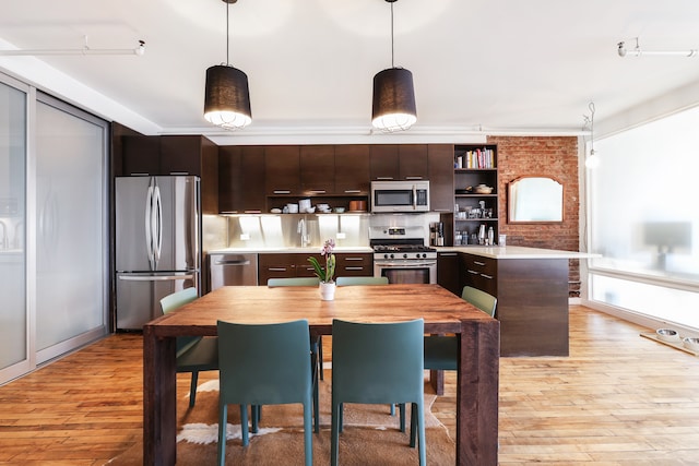
[[[177,455],[175,338],[143,327],[143,464],[174,465]]]

